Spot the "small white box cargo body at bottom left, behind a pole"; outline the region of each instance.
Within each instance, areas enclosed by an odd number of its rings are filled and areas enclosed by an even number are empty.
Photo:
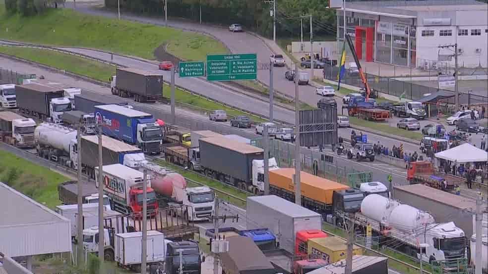
[[[166,244],[164,234],[156,231],[147,231],[147,263],[164,262]],[[115,234],[114,240],[115,261],[126,267],[135,269],[141,264],[142,232],[128,232]]]

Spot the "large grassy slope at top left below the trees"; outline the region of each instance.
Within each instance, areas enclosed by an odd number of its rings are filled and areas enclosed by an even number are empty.
[[[37,16],[5,13],[0,4],[0,38],[56,46],[91,47],[154,59],[154,50],[185,60],[204,60],[209,53],[226,53],[220,42],[201,34],[78,13],[69,8],[47,9]]]

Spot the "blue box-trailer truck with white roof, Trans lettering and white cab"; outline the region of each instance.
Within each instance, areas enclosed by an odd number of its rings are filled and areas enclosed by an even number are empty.
[[[137,145],[144,153],[161,153],[163,133],[151,114],[120,105],[95,106],[95,120],[103,134]]]

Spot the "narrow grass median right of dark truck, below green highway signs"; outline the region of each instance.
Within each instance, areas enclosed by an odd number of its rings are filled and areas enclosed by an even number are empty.
[[[166,98],[171,98],[170,86],[165,85],[163,87],[163,96]],[[255,115],[250,115],[250,114],[244,113],[243,111],[224,106],[222,104],[216,103],[214,101],[207,100],[206,98],[200,97],[198,95],[191,94],[189,92],[186,92],[186,91],[183,91],[180,89],[175,90],[175,100],[182,102],[182,103],[185,103],[185,104],[190,104],[196,108],[203,108],[205,110],[217,110],[217,109],[225,110],[227,112],[227,115],[232,115],[232,116],[246,115],[254,122],[266,121],[265,119],[262,119],[260,117],[255,116]]]

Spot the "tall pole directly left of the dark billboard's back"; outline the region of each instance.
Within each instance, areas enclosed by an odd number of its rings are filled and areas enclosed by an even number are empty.
[[[300,81],[298,65],[295,64],[295,203],[298,205],[302,205],[302,190],[301,190],[301,178],[300,172],[302,169],[300,168],[301,165],[301,156],[300,156],[300,99],[298,94],[298,81]]]

